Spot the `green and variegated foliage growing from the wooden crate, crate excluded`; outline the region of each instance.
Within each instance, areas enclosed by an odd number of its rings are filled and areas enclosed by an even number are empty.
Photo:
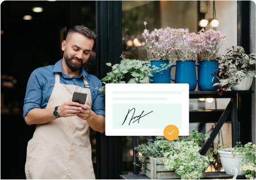
[[[158,137],[155,140],[155,145],[148,143],[137,146],[135,149],[141,153],[139,160],[143,174],[145,174],[149,157],[163,157],[164,168],[175,171],[178,175],[181,175],[181,179],[201,178],[202,170],[205,170],[210,161],[214,160],[212,154],[202,158],[199,153],[201,147],[198,144],[210,136],[198,133],[194,129],[192,132],[193,135],[180,136],[173,141]]]

